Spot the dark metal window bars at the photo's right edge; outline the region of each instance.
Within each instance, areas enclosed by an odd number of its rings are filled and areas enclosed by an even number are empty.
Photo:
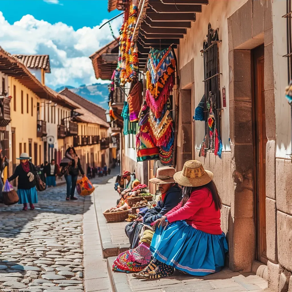
[[[287,54],[283,57],[287,58],[287,69],[288,69],[288,84],[292,79],[292,11],[291,11],[291,0],[286,0],[286,14],[282,16],[286,18],[286,33],[287,33]],[[291,125],[292,125],[292,103],[291,106]],[[291,127],[291,145],[292,145],[292,127]],[[291,153],[292,155],[292,153]]]

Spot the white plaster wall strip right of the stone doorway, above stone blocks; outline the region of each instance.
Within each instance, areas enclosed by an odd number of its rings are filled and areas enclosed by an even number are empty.
[[[291,107],[285,98],[288,85],[287,36],[286,36],[286,1],[273,0],[273,59],[274,59],[274,93],[276,112],[276,157],[290,158],[291,154]]]

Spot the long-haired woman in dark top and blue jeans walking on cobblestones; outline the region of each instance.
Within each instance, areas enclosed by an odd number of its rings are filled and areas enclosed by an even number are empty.
[[[65,180],[67,184],[67,196],[66,201],[71,200],[78,200],[76,197],[74,197],[74,192],[76,188],[76,182],[78,178],[79,171],[84,177],[84,171],[82,169],[80,159],[78,155],[75,152],[75,149],[73,147],[69,147],[66,150],[65,156],[71,159],[71,165],[68,169],[68,174],[65,174]]]

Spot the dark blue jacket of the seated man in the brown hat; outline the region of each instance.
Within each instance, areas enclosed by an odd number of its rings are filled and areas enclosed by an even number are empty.
[[[143,216],[144,223],[150,224],[177,206],[180,201],[181,188],[175,184],[166,192],[163,202],[160,200],[154,208],[145,209],[139,215]]]

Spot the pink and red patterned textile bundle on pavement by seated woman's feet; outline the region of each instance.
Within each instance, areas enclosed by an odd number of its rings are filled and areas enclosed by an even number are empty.
[[[120,253],[114,260],[112,270],[117,272],[140,272],[149,263],[152,254],[149,245],[142,243],[134,249]]]

